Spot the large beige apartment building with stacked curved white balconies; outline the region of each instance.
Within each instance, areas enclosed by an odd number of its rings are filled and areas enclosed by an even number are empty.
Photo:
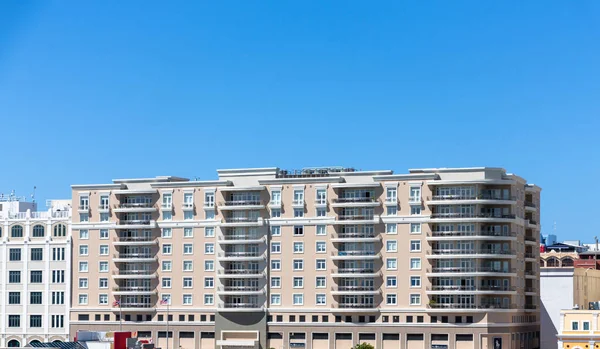
[[[72,186],[72,336],[122,328],[183,349],[539,347],[541,189],[523,178],[217,172]]]

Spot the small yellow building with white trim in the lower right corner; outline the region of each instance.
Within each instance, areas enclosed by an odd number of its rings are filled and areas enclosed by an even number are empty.
[[[592,349],[600,348],[600,310],[562,310],[560,312],[560,332],[558,348]]]

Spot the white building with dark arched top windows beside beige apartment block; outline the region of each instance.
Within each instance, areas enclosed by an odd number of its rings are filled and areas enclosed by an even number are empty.
[[[0,197],[0,347],[68,339],[71,205],[48,206]]]

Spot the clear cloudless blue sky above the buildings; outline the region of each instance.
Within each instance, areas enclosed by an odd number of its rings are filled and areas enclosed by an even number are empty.
[[[2,1],[0,192],[501,166],[591,240],[598,1]]]

